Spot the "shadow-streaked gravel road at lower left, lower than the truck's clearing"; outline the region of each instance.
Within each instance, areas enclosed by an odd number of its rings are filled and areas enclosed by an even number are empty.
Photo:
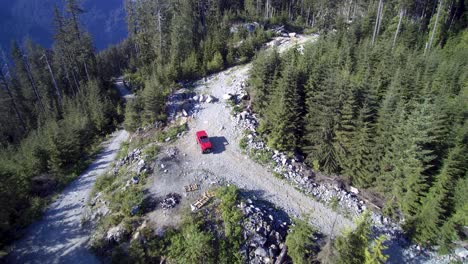
[[[104,173],[129,134],[119,130],[105,143],[97,159],[63,190],[43,218],[28,227],[7,258],[11,263],[99,263],[87,248],[91,230],[81,226],[81,217],[96,176]]]

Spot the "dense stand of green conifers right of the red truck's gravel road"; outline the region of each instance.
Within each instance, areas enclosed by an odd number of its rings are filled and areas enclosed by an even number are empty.
[[[415,6],[404,10],[411,13]],[[463,207],[453,206],[454,194],[447,190],[466,171],[466,165],[450,159],[466,145],[457,138],[467,129],[462,101],[467,99],[468,34],[454,29],[449,37],[443,12],[437,23],[434,16],[423,22],[406,15],[396,32],[399,12],[389,8],[372,43],[376,7],[368,7],[373,12],[346,30],[336,17],[314,25],[328,27],[323,24],[328,21],[338,30],[324,32],[301,55],[257,55],[249,92],[260,116],[258,132],[274,149],[305,154],[317,171],[377,191],[385,199],[384,211],[405,219],[405,230],[418,243],[449,248],[448,237],[461,234],[451,219]],[[434,24],[434,42],[425,49]]]

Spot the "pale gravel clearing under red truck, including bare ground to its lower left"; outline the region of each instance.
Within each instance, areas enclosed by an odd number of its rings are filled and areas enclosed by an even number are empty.
[[[240,83],[248,77],[249,68],[249,65],[239,66],[211,76],[207,82],[198,82],[195,91],[198,94],[210,94],[215,98],[234,93]],[[227,182],[272,202],[290,215],[309,214],[311,223],[325,234],[330,234],[333,229],[338,231],[352,226],[349,219],[310,199],[242,154],[239,148],[239,140],[243,137],[242,130],[235,125],[227,103],[222,100],[203,103],[198,110],[188,121],[188,133],[168,146],[179,150],[176,159],[168,158],[162,151],[163,155],[157,161],[156,176],[150,187],[154,195],[164,196],[172,192],[182,192],[184,185],[192,183],[207,186]],[[194,136],[198,130],[207,131],[214,145],[213,153],[200,153]],[[161,164],[164,169],[161,168]],[[155,211],[153,214],[158,213],[160,212]],[[174,223],[172,216],[168,216],[167,220]]]

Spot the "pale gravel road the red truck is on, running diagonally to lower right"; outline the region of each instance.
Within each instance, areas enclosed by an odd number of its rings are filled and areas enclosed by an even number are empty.
[[[174,143],[182,155],[185,171],[204,170],[224,178],[283,208],[290,215],[311,217],[311,223],[325,234],[337,232],[352,222],[275,178],[265,167],[242,154],[239,140],[242,131],[235,125],[231,109],[222,102],[226,93],[234,92],[248,77],[249,65],[238,66],[213,75],[207,82],[200,81],[196,91],[221,99],[216,103],[203,103],[195,118],[189,122],[189,132]],[[195,142],[195,132],[206,130],[214,144],[212,154],[202,155]],[[155,184],[158,184],[155,182]],[[336,221],[335,221],[336,220]]]

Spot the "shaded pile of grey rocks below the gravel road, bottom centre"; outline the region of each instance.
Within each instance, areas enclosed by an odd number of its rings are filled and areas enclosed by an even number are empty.
[[[243,233],[246,243],[241,248],[248,263],[274,263],[285,247],[289,219],[265,205],[247,199],[239,208],[245,216]]]

